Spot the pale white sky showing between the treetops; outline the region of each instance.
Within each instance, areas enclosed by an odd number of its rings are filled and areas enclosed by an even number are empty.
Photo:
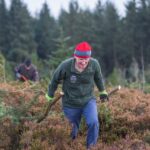
[[[5,1],[7,6],[9,7],[11,0]],[[43,3],[47,2],[50,9],[50,13],[56,18],[59,16],[61,8],[68,10],[68,4],[70,2],[70,0],[22,0],[22,1],[27,5],[28,10],[33,16],[38,14],[42,8]],[[77,0],[77,1],[81,8],[84,9],[88,7],[91,10],[95,8],[95,5],[97,3],[97,0]],[[102,0],[102,4],[104,4],[106,1],[107,0]],[[108,0],[108,1],[114,3],[120,16],[125,15],[124,6],[129,0]]]

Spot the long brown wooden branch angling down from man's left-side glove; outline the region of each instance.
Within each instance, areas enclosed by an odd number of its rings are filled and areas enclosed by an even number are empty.
[[[51,107],[52,107],[53,105],[55,105],[56,102],[57,102],[63,95],[64,95],[64,93],[63,93],[63,92],[60,92],[60,93],[57,95],[57,97],[55,97],[55,98],[53,99],[52,102],[49,102],[48,107],[47,107],[45,113],[37,120],[37,123],[40,123],[42,120],[44,120],[44,119],[47,117],[47,115],[48,115],[48,113],[49,113]]]

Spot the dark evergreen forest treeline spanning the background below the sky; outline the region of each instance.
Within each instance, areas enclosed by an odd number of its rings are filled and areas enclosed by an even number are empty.
[[[46,2],[40,13],[32,17],[22,0],[12,0],[9,9],[5,0],[0,0],[0,51],[10,67],[28,55],[36,58],[34,63],[42,68],[40,76],[43,77],[71,56],[70,48],[87,41],[105,78],[113,74],[115,68],[123,70],[123,78],[126,78],[125,72],[135,58],[144,83],[144,71],[148,72],[150,64],[150,2],[130,0],[125,7],[126,15],[121,17],[111,2],[103,4],[98,0],[91,11],[88,7],[81,9],[73,0],[69,10],[62,9],[56,20]]]

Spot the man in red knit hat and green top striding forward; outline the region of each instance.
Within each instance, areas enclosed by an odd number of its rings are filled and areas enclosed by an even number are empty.
[[[55,70],[47,100],[52,100],[58,84],[63,80],[63,111],[72,123],[72,139],[77,137],[82,115],[85,117],[88,133],[87,148],[94,146],[98,139],[99,121],[94,97],[94,83],[100,91],[100,98],[107,99],[101,69],[98,61],[91,58],[91,46],[87,42],[79,43],[74,51],[74,58],[62,62]]]

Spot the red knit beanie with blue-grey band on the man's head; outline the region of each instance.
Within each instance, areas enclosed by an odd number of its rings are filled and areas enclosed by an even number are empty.
[[[79,58],[89,58],[91,57],[92,47],[87,42],[81,42],[76,45],[74,56]]]

